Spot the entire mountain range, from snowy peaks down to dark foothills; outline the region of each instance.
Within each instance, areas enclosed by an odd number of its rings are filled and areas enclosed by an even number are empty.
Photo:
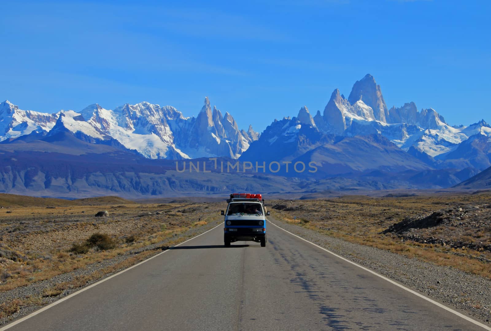
[[[195,117],[147,102],[47,114],[5,101],[0,150],[0,192],[9,193],[177,196],[250,185],[267,192],[431,189],[491,166],[491,126],[484,120],[449,126],[436,110],[418,110],[413,102],[388,108],[381,86],[366,75],[348,98],[335,89],[322,113],[312,116],[303,106],[261,134],[251,126],[240,130],[208,98]],[[267,173],[179,177],[170,161],[203,157],[264,162]],[[274,163],[280,164],[276,172]],[[305,171],[299,173],[297,163]],[[308,171],[311,163],[317,171]]]

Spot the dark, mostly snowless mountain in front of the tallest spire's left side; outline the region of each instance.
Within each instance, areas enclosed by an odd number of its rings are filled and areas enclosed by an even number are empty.
[[[317,115],[316,115],[317,116]],[[354,137],[322,132],[306,107],[298,116],[275,120],[240,157],[241,161],[266,163],[290,162],[283,167],[285,176],[308,176],[322,179],[329,176],[354,176],[370,171],[423,171],[430,165],[403,151],[380,133]],[[319,123],[319,122],[318,122]],[[297,173],[293,165],[301,162],[317,166],[315,173]]]

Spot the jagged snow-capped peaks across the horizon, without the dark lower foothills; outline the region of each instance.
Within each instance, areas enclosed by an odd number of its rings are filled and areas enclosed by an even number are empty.
[[[452,127],[436,110],[418,110],[413,102],[389,109],[381,86],[369,74],[356,81],[348,98],[335,89],[322,113],[312,116],[304,106],[296,117],[274,120],[261,135],[251,126],[247,131],[239,130],[233,116],[212,108],[207,97],[196,117],[148,102],[113,110],[93,104],[78,112],[54,114],[20,110],[8,101],[0,104],[0,141],[4,143],[46,136],[54,139],[57,132],[134,150],[150,159],[242,156],[260,162],[291,161],[320,146],[335,145],[343,137],[380,136],[433,169],[468,169],[465,171],[472,173],[489,166],[491,160],[491,127],[484,120]],[[251,144],[254,148],[249,150]],[[325,153],[333,152],[319,150],[322,153],[311,154],[326,158]]]

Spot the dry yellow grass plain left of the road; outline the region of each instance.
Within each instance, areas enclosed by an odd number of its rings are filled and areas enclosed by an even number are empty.
[[[96,199],[99,202],[107,201]],[[93,199],[81,201],[94,202]],[[2,272],[8,273],[8,277],[0,278],[0,291],[50,279],[129,250],[168,240],[192,227],[217,221],[219,210],[223,209],[223,204],[219,203],[121,205],[119,203],[122,201],[115,202],[118,204],[11,207],[9,210],[13,211],[12,214],[0,214],[0,228],[5,230],[0,236],[0,245],[4,245],[0,246],[0,275]],[[39,201],[30,203],[38,204]],[[109,217],[94,217],[101,210],[109,211]],[[109,234],[116,247],[101,251],[91,248],[84,254],[69,251],[74,243],[83,243],[96,232]],[[5,250],[4,255],[19,257],[15,261],[2,258],[2,249]],[[127,261],[131,262],[131,259]],[[46,295],[55,295],[55,292]]]

